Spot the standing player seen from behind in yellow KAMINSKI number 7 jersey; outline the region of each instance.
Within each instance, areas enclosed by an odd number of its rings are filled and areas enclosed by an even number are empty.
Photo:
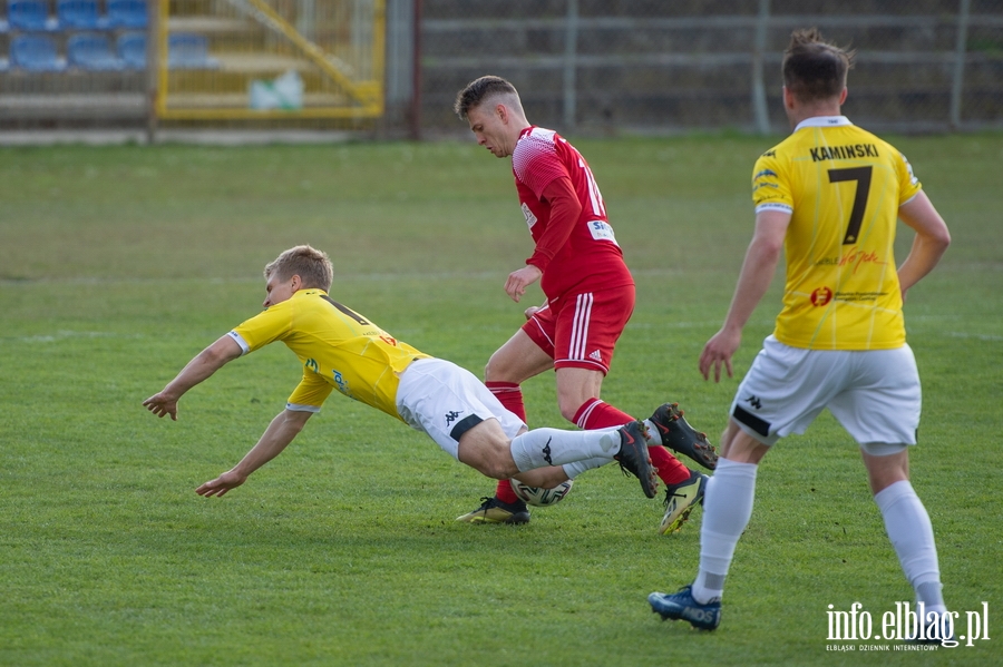
[[[756,230],[724,325],[700,356],[703,376],[713,370],[719,381],[722,365],[731,375],[742,327],[769,287],[781,249],[783,308],[732,402],[707,485],[697,579],[676,594],[649,596],[662,618],[718,627],[724,578],[752,513],[759,462],[828,408],[860,448],[888,537],[931,615],[922,620],[926,639],[950,639],[933,528],[909,483],[921,395],[902,305],[951,236],[905,157],[840,115],[851,59],[814,29],[796,31],[783,55],[783,106],[793,133],[756,163]],[[896,269],[898,218],[916,236]]]

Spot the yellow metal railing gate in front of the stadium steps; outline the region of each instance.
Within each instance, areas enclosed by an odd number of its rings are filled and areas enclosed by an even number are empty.
[[[162,0],[158,6],[152,33],[158,118],[383,115],[384,0]],[[296,98],[252,106],[252,88],[272,90],[283,75],[299,84]]]

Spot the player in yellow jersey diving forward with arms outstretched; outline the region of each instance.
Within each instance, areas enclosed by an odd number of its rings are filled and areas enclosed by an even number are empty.
[[[251,451],[230,471],[198,487],[223,496],[277,457],[337,390],[427,433],[455,459],[495,478],[551,488],[569,479],[565,464],[616,460],[654,498],[658,478],[641,422],[600,431],[528,431],[471,373],[398,341],[333,301],[328,255],[310,246],[282,253],[264,271],[265,311],[198,353],[143,404],[177,419],[177,402],[224,364],[282,341],[300,359],[303,377]],[[378,440],[367,443],[379,447]]]

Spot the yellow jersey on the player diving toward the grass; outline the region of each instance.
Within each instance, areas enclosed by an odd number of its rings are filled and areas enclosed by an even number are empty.
[[[292,298],[251,317],[232,332],[244,353],[282,341],[303,364],[290,410],[317,412],[331,390],[400,419],[399,375],[416,359],[410,345],[340,303],[323,290],[300,290]]]

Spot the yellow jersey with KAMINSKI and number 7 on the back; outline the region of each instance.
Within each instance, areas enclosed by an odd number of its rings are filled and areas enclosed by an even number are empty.
[[[809,118],[762,154],[756,213],[791,214],[777,340],[811,350],[905,344],[893,244],[898,207],[919,188],[905,156],[844,116]]]

